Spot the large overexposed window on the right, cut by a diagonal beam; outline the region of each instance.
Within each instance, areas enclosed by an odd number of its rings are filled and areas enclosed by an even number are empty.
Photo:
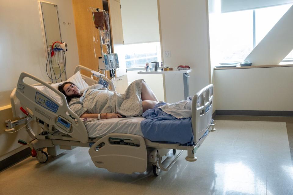
[[[221,5],[209,14],[211,63],[243,61],[292,4],[220,13]],[[254,27],[255,26],[255,27]],[[293,50],[284,61],[293,61]]]

